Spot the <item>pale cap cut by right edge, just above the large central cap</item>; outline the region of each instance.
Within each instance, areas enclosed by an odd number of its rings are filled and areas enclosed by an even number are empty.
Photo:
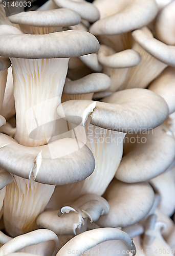
[[[148,87],[166,101],[169,114],[175,111],[175,69],[167,67]]]

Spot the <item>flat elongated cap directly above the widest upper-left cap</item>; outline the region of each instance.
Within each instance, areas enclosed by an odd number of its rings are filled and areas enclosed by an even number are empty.
[[[20,12],[9,16],[12,23],[34,27],[67,27],[81,22],[78,13],[69,9]]]

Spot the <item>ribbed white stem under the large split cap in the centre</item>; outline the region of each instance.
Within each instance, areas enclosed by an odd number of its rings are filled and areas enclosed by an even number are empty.
[[[78,140],[83,141],[92,151],[96,166],[91,176],[66,186],[65,193],[70,193],[73,200],[86,193],[101,196],[114,178],[123,154],[123,140],[126,133],[103,129],[90,122],[88,118],[85,127],[79,125],[75,128],[75,132]],[[69,122],[69,128],[71,127],[72,124]]]

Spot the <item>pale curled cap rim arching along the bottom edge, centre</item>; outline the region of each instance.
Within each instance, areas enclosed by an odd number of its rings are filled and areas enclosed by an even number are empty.
[[[78,234],[65,244],[56,254],[56,256],[76,255],[80,256],[92,247],[108,240],[122,240],[129,251],[136,254],[136,248],[128,234],[116,228],[99,228]]]

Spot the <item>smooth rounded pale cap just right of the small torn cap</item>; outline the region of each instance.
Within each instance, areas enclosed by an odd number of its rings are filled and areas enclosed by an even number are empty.
[[[114,179],[103,197],[110,205],[110,211],[100,217],[97,225],[126,227],[136,224],[148,214],[155,194],[147,182],[126,184]]]

